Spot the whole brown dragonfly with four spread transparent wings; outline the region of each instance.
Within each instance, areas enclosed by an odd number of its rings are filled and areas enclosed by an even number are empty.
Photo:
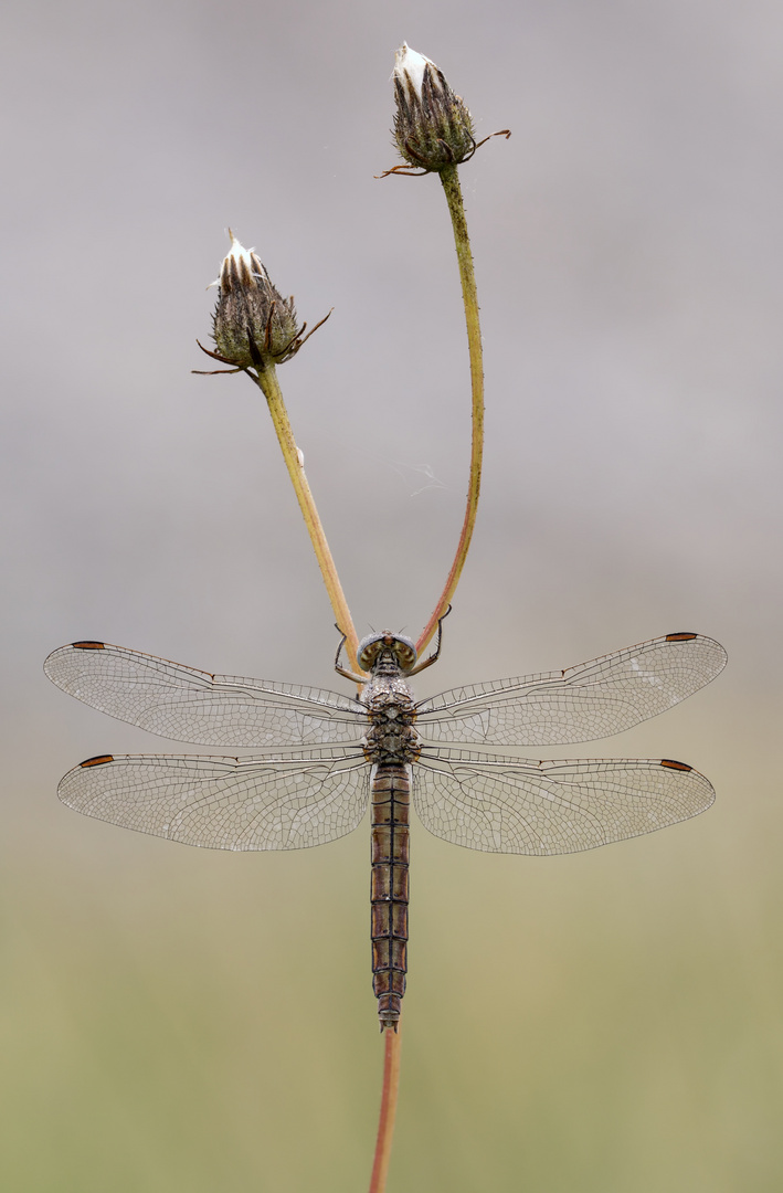
[[[550,855],[652,833],[710,806],[710,783],[673,759],[534,761],[485,746],[609,737],[658,716],[722,670],[699,633],[667,633],[566,670],[451,688],[417,700],[411,638],[358,644],[358,696],[217,675],[105,642],[44,663],[85,704],[153,734],[241,756],[99,754],[61,780],[76,811],[218,849],[301,849],[352,833],[371,805],[372,984],[381,1031],[397,1030],[406,988],[411,803],[424,827],[491,853]],[[460,744],[444,744],[457,742]]]

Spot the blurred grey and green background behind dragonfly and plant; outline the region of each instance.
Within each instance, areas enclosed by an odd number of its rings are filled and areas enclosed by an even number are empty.
[[[394,50],[477,134],[482,505],[420,694],[719,638],[713,687],[551,752],[703,771],[703,817],[489,857],[415,826],[389,1193],[781,1188],[783,13],[769,0],[31,0],[2,50],[4,1188],[369,1182],[368,828],[294,854],[85,820],[169,750],[48,684],[99,638],[346,690],[260,394],[196,377],[226,228],[310,323],[280,382],[359,635],[418,636],[462,520],[437,179],[374,175]]]

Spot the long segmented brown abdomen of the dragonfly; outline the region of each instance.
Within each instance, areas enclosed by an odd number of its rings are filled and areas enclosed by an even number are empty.
[[[378,765],[371,790],[372,989],[381,1031],[396,1031],[408,968],[411,767]]]

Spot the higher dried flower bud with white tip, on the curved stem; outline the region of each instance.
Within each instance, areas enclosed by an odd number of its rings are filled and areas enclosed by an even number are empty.
[[[402,43],[394,56],[394,137],[411,166],[440,171],[458,166],[476,149],[470,112],[443,72]]]

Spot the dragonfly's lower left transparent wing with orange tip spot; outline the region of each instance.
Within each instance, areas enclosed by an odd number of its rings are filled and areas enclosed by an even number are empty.
[[[212,849],[304,849],[362,820],[369,767],[354,750],[298,758],[125,754],[87,759],[57,795],[85,816]]]

